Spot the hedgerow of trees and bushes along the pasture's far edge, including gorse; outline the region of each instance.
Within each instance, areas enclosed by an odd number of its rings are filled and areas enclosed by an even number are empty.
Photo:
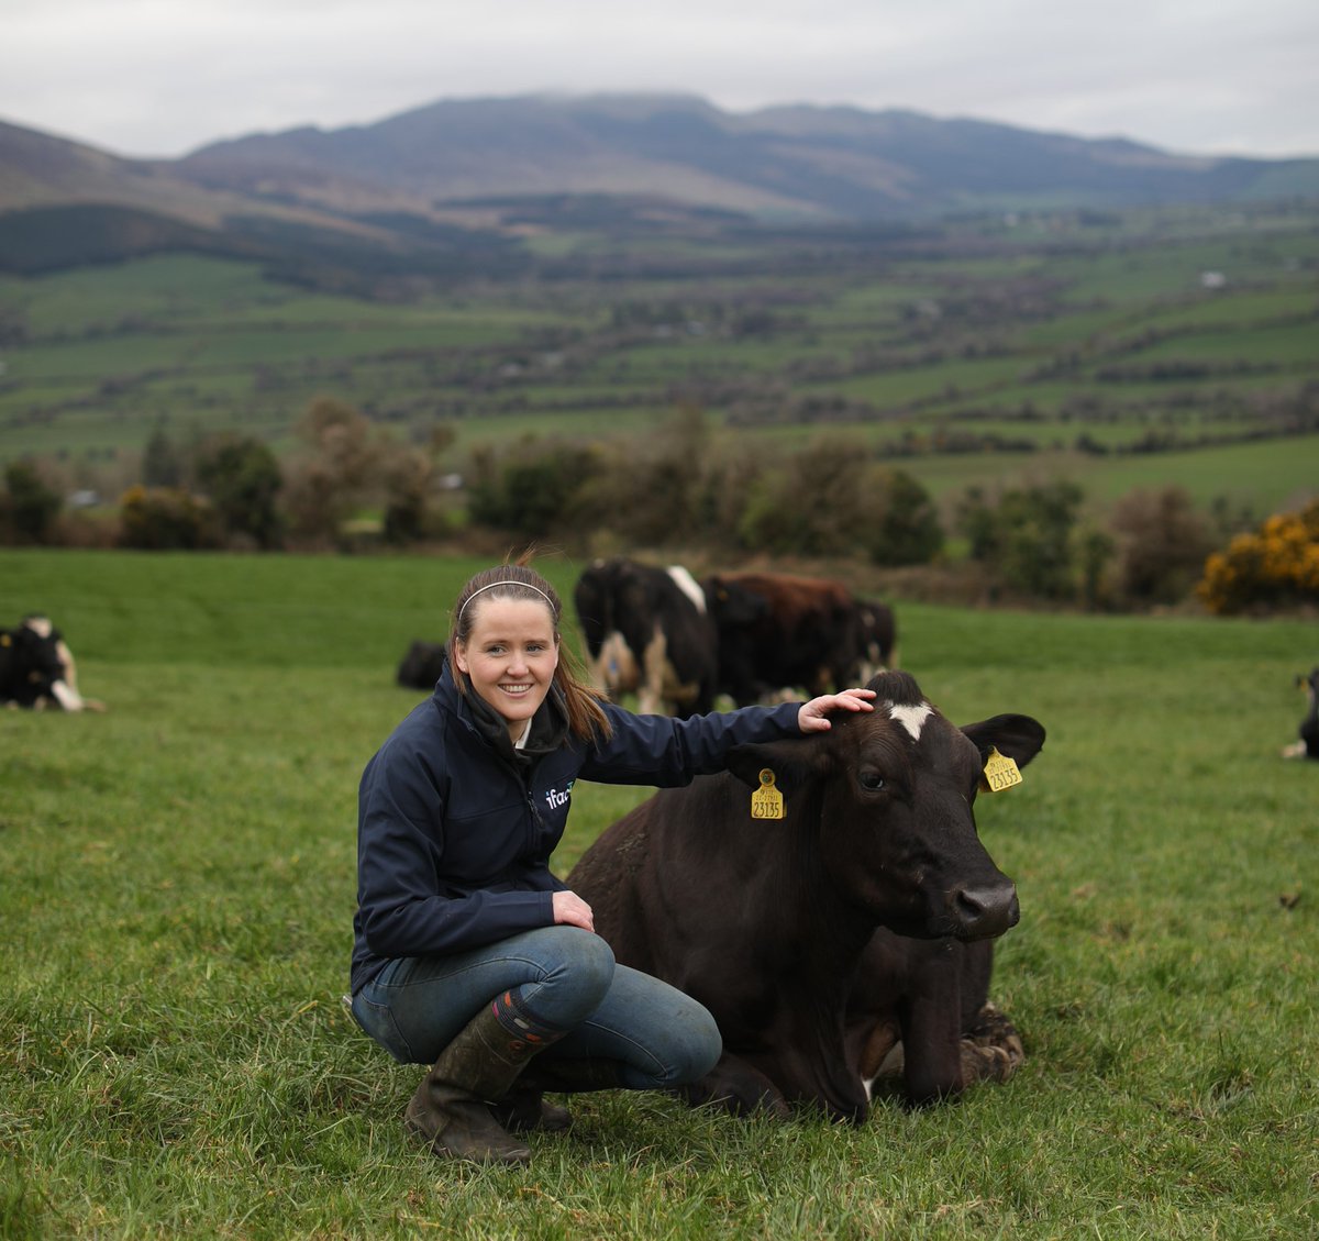
[[[616,550],[878,568],[963,564],[991,599],[1049,605],[1133,609],[1198,599],[1228,613],[1319,603],[1319,501],[1260,525],[1221,502],[1198,509],[1183,489],[1165,487],[1129,493],[1100,521],[1080,487],[1055,480],[968,488],[940,512],[882,450],[830,437],[782,456],[716,444],[695,405],[677,406],[645,440],[528,435],[479,447],[460,492],[447,460],[452,442],[452,431],[439,429],[426,443],[400,443],[328,397],[303,411],[282,460],[253,437],[181,447],[157,427],[138,480],[91,537],[86,521],[63,512],[44,463],[11,463],[0,541],[259,551],[491,537],[591,551],[605,541]]]

